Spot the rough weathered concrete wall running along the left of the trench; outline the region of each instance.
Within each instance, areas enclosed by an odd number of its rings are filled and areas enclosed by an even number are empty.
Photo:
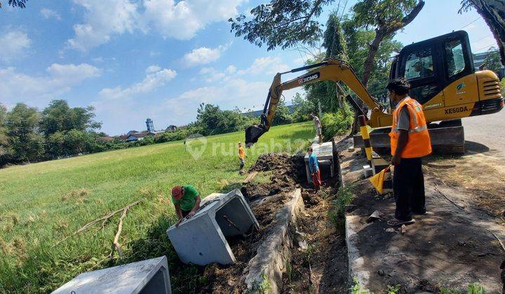
[[[276,294],[282,290],[282,275],[291,260],[297,219],[303,211],[302,191],[296,189],[290,202],[276,214],[271,234],[260,244],[257,254],[249,262],[248,275],[245,277],[248,293]]]

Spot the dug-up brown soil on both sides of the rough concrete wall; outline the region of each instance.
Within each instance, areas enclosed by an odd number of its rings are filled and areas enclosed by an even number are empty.
[[[283,293],[346,293],[347,253],[345,236],[337,232],[328,221],[331,197],[335,190],[314,193],[305,186],[303,155],[287,153],[261,155],[248,172],[274,172],[268,183],[247,183],[243,195],[251,202],[251,209],[260,223],[260,230],[245,239],[230,238],[228,242],[237,262],[234,265],[208,265],[203,276],[206,286],[201,293],[243,293],[245,268],[257,253],[258,246],[275,225],[274,216],[289,201],[287,195],[295,188],[302,188],[305,217],[299,220],[299,232],[309,245],[307,250],[293,248],[290,274],[283,276]],[[310,277],[310,279],[308,278]]]

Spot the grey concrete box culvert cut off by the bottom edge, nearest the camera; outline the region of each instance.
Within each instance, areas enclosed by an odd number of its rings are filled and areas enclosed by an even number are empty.
[[[55,293],[172,293],[166,256],[79,274]]]

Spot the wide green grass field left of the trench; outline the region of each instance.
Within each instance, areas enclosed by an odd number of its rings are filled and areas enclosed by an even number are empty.
[[[294,152],[312,137],[311,123],[272,127],[246,150],[246,168],[260,153]],[[155,254],[142,240],[163,235],[175,221],[170,188],[192,184],[203,196],[232,190],[244,178],[237,173],[238,141],[243,132],[0,169],[0,292],[48,292],[105,267],[99,262],[111,252],[120,214],[53,245],[136,200],[142,202],[128,211],[119,239],[128,258],[114,262]]]

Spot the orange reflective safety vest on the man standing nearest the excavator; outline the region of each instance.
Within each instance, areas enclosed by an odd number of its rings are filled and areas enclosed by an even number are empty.
[[[393,125],[389,133],[389,137],[391,137],[391,155],[395,154],[396,146],[398,146],[400,132],[398,132],[397,127],[401,109],[407,109],[410,117],[408,141],[405,148],[403,148],[401,158],[420,158],[429,155],[431,153],[431,140],[422,106],[410,97],[398,102],[398,106],[393,111]]]

